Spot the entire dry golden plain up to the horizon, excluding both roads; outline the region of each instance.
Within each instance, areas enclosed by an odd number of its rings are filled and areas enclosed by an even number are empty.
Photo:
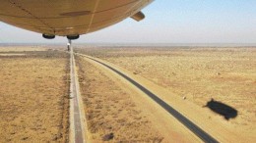
[[[69,54],[0,47],[0,142],[69,142]],[[221,142],[256,141],[255,47],[75,46],[154,91]],[[76,54],[91,142],[201,142],[116,73]]]

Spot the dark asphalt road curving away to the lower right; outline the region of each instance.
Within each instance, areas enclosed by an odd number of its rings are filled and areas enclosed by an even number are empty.
[[[183,125],[185,125],[188,129],[190,129],[202,141],[207,142],[207,143],[218,143],[219,142],[219,141],[217,141],[217,139],[215,139],[213,136],[211,136],[210,134],[205,132],[203,129],[201,129],[198,125],[193,123],[191,120],[189,120],[186,117],[182,116],[179,112],[177,112],[175,109],[173,109],[170,105],[168,105],[163,100],[161,100],[156,94],[154,94],[153,92],[151,92],[150,90],[148,90],[143,85],[141,85],[140,83],[136,82],[135,80],[133,80],[129,76],[125,75],[121,71],[117,71],[117,70],[113,69],[112,67],[110,67],[110,66],[108,66],[108,65],[106,65],[106,64],[104,64],[104,63],[102,63],[100,61],[97,61],[94,58],[88,57],[88,56],[83,55],[83,54],[79,54],[79,55],[85,56],[85,57],[95,61],[96,63],[99,63],[102,66],[110,69],[111,71],[114,71],[114,72],[118,73],[120,76],[124,77],[125,79],[127,79],[129,82],[131,82],[136,87],[141,89],[149,97],[151,97],[155,102],[157,102],[160,105],[160,107],[162,107],[165,111],[167,111],[171,116],[173,116],[175,119],[179,120]]]

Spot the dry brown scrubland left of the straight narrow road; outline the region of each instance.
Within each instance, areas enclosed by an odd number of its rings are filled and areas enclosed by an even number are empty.
[[[68,62],[47,49],[0,48],[0,142],[68,141]]]

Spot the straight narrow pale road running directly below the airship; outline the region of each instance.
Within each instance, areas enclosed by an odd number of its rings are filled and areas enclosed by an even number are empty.
[[[85,137],[85,117],[81,100],[79,82],[76,72],[75,58],[73,48],[70,50],[70,142],[86,143]]]

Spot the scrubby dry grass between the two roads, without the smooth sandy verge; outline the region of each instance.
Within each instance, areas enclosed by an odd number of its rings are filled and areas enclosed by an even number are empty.
[[[111,77],[77,59],[80,87],[92,142],[160,142],[152,121]]]

